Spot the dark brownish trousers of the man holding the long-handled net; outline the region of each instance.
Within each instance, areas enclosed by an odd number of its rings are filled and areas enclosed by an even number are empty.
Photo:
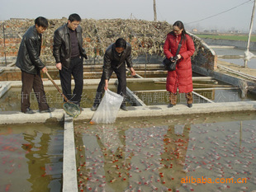
[[[40,73],[33,75],[30,73],[21,72],[21,82],[21,112],[25,113],[26,108],[31,106],[30,96],[32,89],[35,92],[39,110],[48,110],[49,105],[47,104],[45,98],[45,90]]]

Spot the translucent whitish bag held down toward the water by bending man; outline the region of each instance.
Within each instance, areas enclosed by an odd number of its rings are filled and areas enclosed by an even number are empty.
[[[107,89],[100,105],[92,116],[91,123],[114,123],[123,100],[123,96]]]

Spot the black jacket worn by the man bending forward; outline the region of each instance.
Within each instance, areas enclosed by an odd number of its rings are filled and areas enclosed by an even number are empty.
[[[109,69],[110,68],[119,68],[122,64],[127,64],[128,68],[132,68],[131,61],[131,46],[129,43],[126,43],[126,49],[121,53],[121,56],[116,52],[116,44],[111,44],[106,49],[104,54],[104,63],[103,63],[103,75],[105,79],[110,78]]]

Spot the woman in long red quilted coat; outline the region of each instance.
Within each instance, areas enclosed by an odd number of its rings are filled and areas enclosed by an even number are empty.
[[[176,55],[178,44],[182,39],[182,47],[177,55],[175,71],[168,71],[166,90],[170,92],[168,107],[173,107],[177,102],[177,88],[179,93],[186,93],[187,106],[192,107],[192,63],[191,56],[195,52],[193,40],[184,29],[182,21],[173,24],[173,30],[168,33],[164,43],[164,54],[166,58],[173,59]]]

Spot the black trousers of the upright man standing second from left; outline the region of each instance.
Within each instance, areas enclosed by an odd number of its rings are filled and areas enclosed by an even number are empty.
[[[75,84],[73,94],[71,93],[71,75]],[[71,59],[68,69],[59,70],[59,77],[64,96],[79,105],[83,93],[83,57]]]

